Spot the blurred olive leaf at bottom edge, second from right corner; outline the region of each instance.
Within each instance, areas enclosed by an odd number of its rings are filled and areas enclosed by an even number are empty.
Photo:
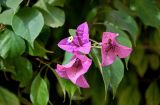
[[[118,105],[139,105],[141,100],[140,93],[134,86],[124,89],[119,97]]]

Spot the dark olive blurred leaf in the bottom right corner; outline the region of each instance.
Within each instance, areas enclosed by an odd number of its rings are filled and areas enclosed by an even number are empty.
[[[145,94],[147,105],[159,105],[160,104],[159,97],[160,97],[160,90],[157,83],[154,81],[149,85]]]

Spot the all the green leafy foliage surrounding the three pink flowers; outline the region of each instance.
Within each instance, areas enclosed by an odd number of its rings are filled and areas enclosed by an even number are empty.
[[[55,73],[71,58],[57,43],[87,21],[90,38],[104,31],[133,48],[101,67],[100,51],[80,89]],[[159,105],[159,0],[0,0],[0,105]]]

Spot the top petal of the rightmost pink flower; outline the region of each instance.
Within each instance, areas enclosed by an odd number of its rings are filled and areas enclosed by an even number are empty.
[[[108,43],[109,39],[111,39],[112,41],[115,41],[117,36],[118,34],[113,32],[103,32],[102,43]]]

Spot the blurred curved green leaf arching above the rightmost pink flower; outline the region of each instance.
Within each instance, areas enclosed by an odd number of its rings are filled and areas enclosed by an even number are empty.
[[[107,21],[117,25],[119,29],[128,31],[134,44],[136,43],[138,26],[131,16],[125,12],[112,10],[107,14],[106,19]]]

